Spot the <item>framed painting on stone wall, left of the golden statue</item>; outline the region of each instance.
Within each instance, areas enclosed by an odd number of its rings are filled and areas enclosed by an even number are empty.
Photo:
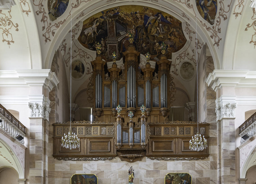
[[[98,177],[95,174],[74,174],[71,184],[98,184]]]

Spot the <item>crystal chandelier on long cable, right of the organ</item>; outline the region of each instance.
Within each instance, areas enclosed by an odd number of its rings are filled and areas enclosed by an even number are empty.
[[[196,12],[197,13],[197,12]],[[197,19],[197,16],[196,16]],[[189,149],[193,151],[203,151],[207,147],[207,141],[205,139],[205,136],[203,135],[203,139],[201,137],[201,134],[199,134],[199,128],[198,128],[198,60],[197,60],[197,20],[196,20],[196,88],[197,88],[197,133],[192,139],[189,141]]]

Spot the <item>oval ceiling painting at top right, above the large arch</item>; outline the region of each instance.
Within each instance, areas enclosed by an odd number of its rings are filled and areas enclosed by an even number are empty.
[[[214,24],[215,16],[217,14],[217,1],[216,0],[196,0],[197,10],[200,15],[209,22]]]

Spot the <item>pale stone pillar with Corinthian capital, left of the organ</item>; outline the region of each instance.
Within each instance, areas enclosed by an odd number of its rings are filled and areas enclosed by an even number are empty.
[[[44,77],[42,77],[44,76]],[[55,73],[48,70],[44,75],[28,80],[30,95],[30,167],[29,183],[48,183],[48,137],[51,112],[49,92],[59,83]]]

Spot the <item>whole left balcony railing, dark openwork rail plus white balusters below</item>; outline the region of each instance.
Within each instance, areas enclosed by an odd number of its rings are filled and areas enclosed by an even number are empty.
[[[0,104],[0,129],[11,135],[12,137],[16,137],[17,135],[26,136],[25,129],[26,127],[17,120],[6,108],[4,108]],[[24,144],[24,139],[20,141]]]

